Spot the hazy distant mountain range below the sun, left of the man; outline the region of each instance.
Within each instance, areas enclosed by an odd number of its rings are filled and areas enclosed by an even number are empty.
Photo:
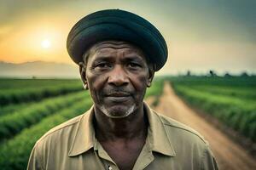
[[[21,64],[0,61],[0,77],[78,78],[79,67],[44,61],[26,62]]]

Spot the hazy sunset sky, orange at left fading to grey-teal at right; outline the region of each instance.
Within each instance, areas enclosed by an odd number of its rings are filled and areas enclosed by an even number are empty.
[[[138,14],[156,26],[168,46],[156,75],[256,73],[254,0],[0,0],[0,61],[75,65],[67,34],[85,15],[107,8]]]

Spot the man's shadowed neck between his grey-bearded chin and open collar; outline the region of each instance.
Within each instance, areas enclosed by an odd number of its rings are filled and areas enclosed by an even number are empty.
[[[117,139],[145,139],[148,129],[148,118],[143,111],[143,105],[137,111],[125,118],[110,118],[95,109],[96,138],[100,141]]]

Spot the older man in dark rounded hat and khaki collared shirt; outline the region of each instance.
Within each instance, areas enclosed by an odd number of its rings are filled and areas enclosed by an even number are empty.
[[[67,50],[94,105],[44,134],[28,169],[218,169],[200,134],[143,103],[167,59],[164,38],[147,20],[119,9],[87,15]]]

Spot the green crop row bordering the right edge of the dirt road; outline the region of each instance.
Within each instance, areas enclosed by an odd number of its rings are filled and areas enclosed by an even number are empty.
[[[256,141],[255,101],[244,101],[230,96],[210,94],[172,83],[176,93],[189,105],[215,116],[228,127]]]

